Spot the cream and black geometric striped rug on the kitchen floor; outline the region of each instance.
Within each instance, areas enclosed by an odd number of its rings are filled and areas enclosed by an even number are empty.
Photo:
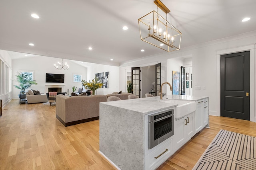
[[[256,137],[220,130],[193,170],[256,170]]]

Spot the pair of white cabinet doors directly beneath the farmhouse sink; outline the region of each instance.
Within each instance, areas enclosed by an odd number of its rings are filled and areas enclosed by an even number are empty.
[[[180,148],[195,134],[195,120],[192,112],[181,119],[174,121],[174,145]]]

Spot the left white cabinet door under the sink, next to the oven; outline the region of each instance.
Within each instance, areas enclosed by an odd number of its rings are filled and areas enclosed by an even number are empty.
[[[186,132],[185,127],[185,118],[181,118],[174,122],[174,145],[175,147],[180,147],[186,142]]]

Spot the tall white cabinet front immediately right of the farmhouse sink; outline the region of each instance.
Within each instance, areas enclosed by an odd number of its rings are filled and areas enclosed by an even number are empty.
[[[198,133],[203,128],[203,108],[204,100],[196,101],[196,113],[195,113],[195,128],[196,133]]]

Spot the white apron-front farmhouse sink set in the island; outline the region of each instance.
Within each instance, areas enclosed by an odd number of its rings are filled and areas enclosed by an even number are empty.
[[[177,100],[177,99],[170,99],[170,100],[162,100],[159,102],[170,103],[170,104],[178,104],[174,111],[175,119],[179,119],[193,111],[196,111],[196,102],[191,100]]]

